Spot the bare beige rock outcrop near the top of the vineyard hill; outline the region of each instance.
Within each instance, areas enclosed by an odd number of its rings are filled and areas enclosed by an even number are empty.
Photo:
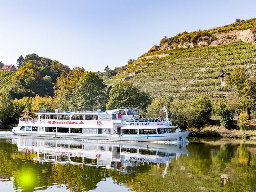
[[[177,48],[197,48],[204,46],[216,46],[222,44],[229,44],[235,41],[244,41],[247,43],[256,43],[256,36],[250,29],[239,31],[234,30],[225,33],[216,33],[209,36],[199,37],[195,42],[182,41],[180,44],[169,44],[168,42],[161,44],[160,50],[170,50]]]

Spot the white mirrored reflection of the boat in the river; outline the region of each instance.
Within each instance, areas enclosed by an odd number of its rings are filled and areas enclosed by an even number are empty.
[[[38,163],[81,164],[127,172],[126,167],[144,164],[168,164],[181,154],[188,156],[188,143],[160,144],[153,142],[100,142],[81,140],[12,139],[18,152],[36,154]]]

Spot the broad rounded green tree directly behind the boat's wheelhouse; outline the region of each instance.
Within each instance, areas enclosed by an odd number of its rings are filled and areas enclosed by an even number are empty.
[[[113,85],[109,92],[108,109],[120,107],[142,108],[151,102],[151,96],[147,93],[140,92],[129,81],[121,81]]]

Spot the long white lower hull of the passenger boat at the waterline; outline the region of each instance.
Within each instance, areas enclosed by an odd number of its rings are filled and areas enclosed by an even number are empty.
[[[100,134],[77,134],[77,133],[58,133],[58,132],[12,132],[15,135],[39,136],[39,137],[59,137],[75,139],[93,140],[116,140],[116,141],[168,141],[185,139],[190,132],[174,132],[154,135],[100,135]]]

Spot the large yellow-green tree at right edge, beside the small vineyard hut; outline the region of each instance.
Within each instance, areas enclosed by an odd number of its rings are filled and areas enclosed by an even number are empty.
[[[256,78],[250,77],[244,67],[236,67],[231,75],[226,77],[226,86],[232,90],[232,99],[241,111],[247,111],[249,120],[251,119],[251,109],[256,103]]]

